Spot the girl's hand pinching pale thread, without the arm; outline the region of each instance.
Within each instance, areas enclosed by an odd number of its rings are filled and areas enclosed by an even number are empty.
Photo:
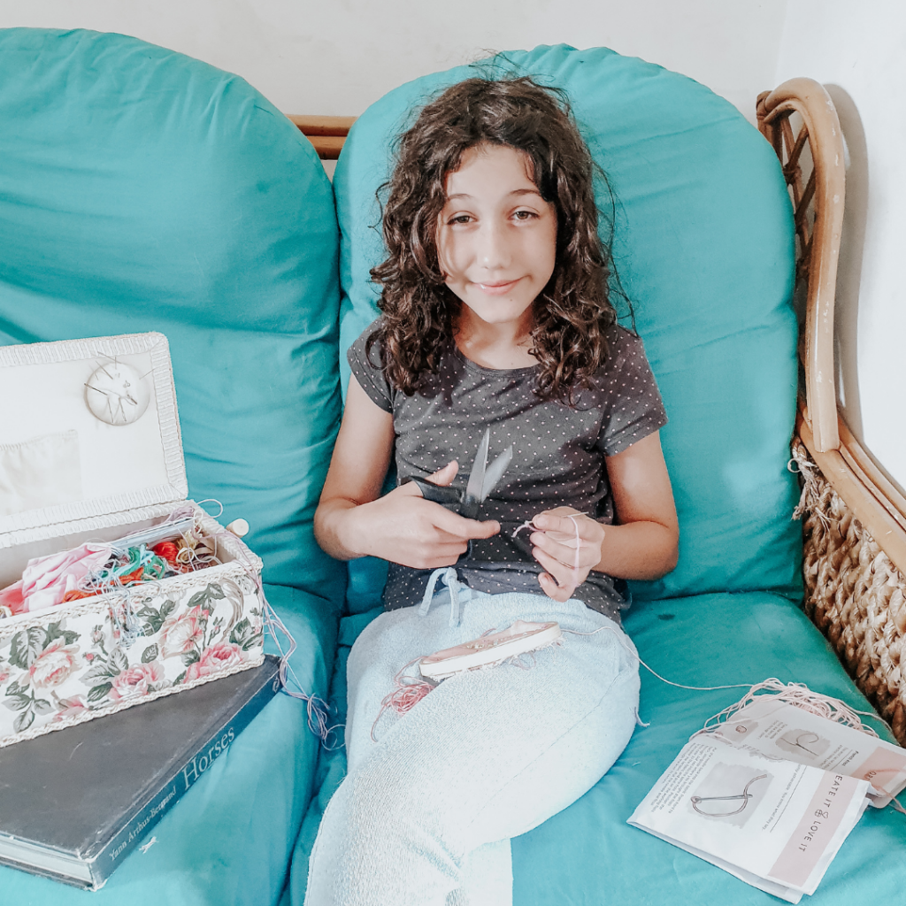
[[[532,554],[547,571],[538,582],[549,598],[568,601],[601,562],[604,526],[572,506],[545,510],[535,516],[532,525],[537,529],[529,538]]]

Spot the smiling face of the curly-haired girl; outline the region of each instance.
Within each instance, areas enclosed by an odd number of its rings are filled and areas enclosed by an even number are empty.
[[[513,324],[519,333],[531,329],[532,303],[556,255],[556,209],[530,173],[522,151],[467,149],[447,177],[438,220],[438,261],[449,288],[480,322]]]

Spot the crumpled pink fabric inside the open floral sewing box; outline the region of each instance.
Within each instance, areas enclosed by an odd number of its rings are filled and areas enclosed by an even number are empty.
[[[88,573],[101,569],[111,554],[110,545],[79,545],[62,554],[34,557],[19,582],[0,590],[0,606],[14,613],[55,607],[65,593],[79,588]]]

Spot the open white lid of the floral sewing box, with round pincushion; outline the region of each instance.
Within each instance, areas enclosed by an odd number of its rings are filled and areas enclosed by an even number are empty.
[[[188,496],[162,333],[0,347],[0,548]]]

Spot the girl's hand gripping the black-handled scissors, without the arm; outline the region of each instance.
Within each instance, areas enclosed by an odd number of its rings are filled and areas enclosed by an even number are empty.
[[[458,470],[454,460],[429,480],[449,485]],[[470,540],[490,538],[500,531],[499,523],[493,520],[467,519],[425,500],[413,482],[347,510],[342,521],[346,524],[342,541],[349,550],[414,569],[452,566],[466,553]]]

